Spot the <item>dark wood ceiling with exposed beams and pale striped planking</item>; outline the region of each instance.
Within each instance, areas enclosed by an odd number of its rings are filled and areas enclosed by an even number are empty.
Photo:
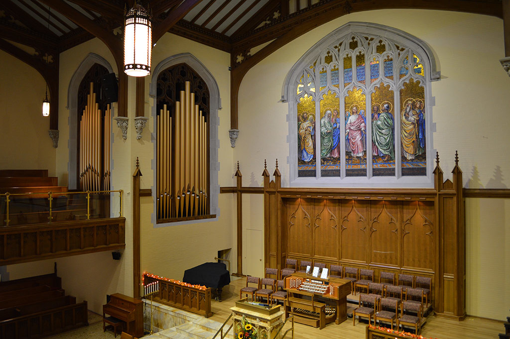
[[[124,8],[134,0],[2,0],[0,38],[59,53],[94,37],[75,16],[82,15],[119,37]],[[145,0],[139,3],[152,12],[154,26],[170,13],[185,8],[169,32],[225,51],[240,45],[261,44],[277,38],[305,19],[302,14],[338,3],[346,12],[381,8],[430,8],[456,10],[501,17],[501,0],[374,1],[374,0]],[[188,6],[185,6],[188,5]],[[75,13],[67,13],[67,11]],[[300,15],[301,14],[301,15]]]

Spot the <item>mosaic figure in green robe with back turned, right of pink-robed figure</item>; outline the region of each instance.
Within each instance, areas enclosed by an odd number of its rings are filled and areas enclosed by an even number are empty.
[[[377,147],[383,160],[395,159],[395,135],[393,115],[390,113],[390,105],[382,104],[382,112],[377,119],[372,121],[372,142]]]

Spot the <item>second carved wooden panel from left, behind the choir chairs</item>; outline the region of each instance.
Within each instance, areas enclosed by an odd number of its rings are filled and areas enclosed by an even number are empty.
[[[314,262],[338,261],[339,203],[333,199],[315,199],[313,226]]]

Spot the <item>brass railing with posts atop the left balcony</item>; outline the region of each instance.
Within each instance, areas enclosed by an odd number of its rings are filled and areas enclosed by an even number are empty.
[[[119,217],[122,217],[122,214],[123,214],[123,204],[122,204],[122,199],[123,199],[123,193],[124,191],[123,190],[117,190],[117,191],[86,191],[86,192],[47,192],[47,193],[32,193],[32,192],[28,192],[28,193],[2,193],[0,194],[0,210],[1,210],[1,207],[2,207],[2,201],[1,201],[1,198],[2,197],[5,197],[5,213],[1,213],[5,219],[4,219],[4,222],[5,222],[5,225],[4,226],[9,226],[11,220],[9,218],[10,215],[12,215],[11,211],[9,210],[9,205],[10,203],[12,202],[12,197],[15,197],[15,196],[22,196],[23,198],[24,197],[28,197],[28,198],[44,198],[44,199],[47,199],[48,200],[48,210],[47,211],[42,211],[43,213],[48,213],[48,222],[53,222],[53,214],[55,213],[54,212],[54,207],[53,207],[53,199],[55,196],[62,196],[62,195],[79,195],[79,194],[86,194],[86,199],[87,199],[87,220],[90,219],[91,217],[91,206],[90,206],[90,198],[91,196],[93,197],[94,195],[99,195],[99,194],[104,194],[104,193],[119,193]],[[47,198],[46,198],[47,196]],[[63,211],[68,211],[68,210],[63,210]],[[58,212],[61,212],[61,211],[58,211]]]

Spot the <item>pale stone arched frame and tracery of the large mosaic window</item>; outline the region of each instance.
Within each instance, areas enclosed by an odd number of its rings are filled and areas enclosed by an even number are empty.
[[[371,50],[375,50],[375,44],[372,44],[371,46],[368,46],[369,43],[365,41],[365,39],[361,39],[361,37],[369,35],[369,36],[376,36],[378,38],[381,38],[385,41],[390,41],[393,43],[399,43],[401,46],[407,47],[408,50],[414,51],[417,55],[421,57],[420,63],[423,63],[423,76],[421,79],[422,81],[422,87],[424,88],[424,98],[425,98],[425,111],[427,114],[426,118],[426,175],[420,175],[420,176],[402,176],[400,175],[400,169],[397,169],[395,172],[396,174],[394,176],[372,176],[371,169],[367,169],[367,175],[366,176],[346,176],[345,175],[345,169],[342,172],[342,175],[340,176],[321,176],[320,174],[320,161],[319,155],[316,155],[317,159],[317,166],[318,169],[317,175],[310,176],[310,177],[302,177],[298,176],[298,133],[297,133],[297,124],[298,124],[298,110],[297,110],[297,103],[299,101],[299,97],[303,94],[309,94],[312,96],[315,96],[317,98],[317,101],[319,101],[319,97],[322,96],[324,93],[323,85],[319,86],[319,79],[316,75],[314,75],[315,72],[315,65],[313,69],[310,69],[312,64],[317,61],[317,64],[321,64],[322,61],[325,60],[326,55],[329,52],[333,52],[335,48],[333,46],[338,47],[338,43],[340,41],[346,41],[345,39],[350,38],[351,36],[357,36],[360,37],[359,41],[362,42],[364,46],[358,46],[354,48],[354,50],[350,51],[352,58],[354,58],[355,54],[358,53],[358,50],[360,47],[364,47],[364,50],[368,55],[371,55]],[[345,88],[342,86],[337,85],[337,87],[331,86],[331,74],[329,72],[329,68],[335,67],[343,63],[343,60],[337,60],[338,58],[336,56],[342,55],[343,52],[345,52],[345,46],[348,44],[348,42],[344,43],[343,45],[340,45],[338,47],[339,51],[335,51],[335,53],[329,53],[327,57],[329,60],[324,64],[322,63],[321,66],[324,66],[327,64],[327,79],[323,79],[322,82],[327,81],[327,86],[325,89],[325,92],[327,93],[327,90],[331,90],[331,92],[335,92],[337,96],[340,96],[340,102],[343,101],[343,98],[345,96],[345,93],[347,91],[345,89],[351,88],[353,85],[357,85],[356,80],[356,74],[353,72],[352,74],[352,81],[349,84],[349,86],[346,86]],[[392,47],[393,48],[393,47]],[[363,49],[363,48],[362,48]],[[386,51],[386,54],[388,51]],[[407,51],[405,51],[407,53]],[[378,60],[381,62],[384,60],[385,53],[383,53],[380,56],[380,59]],[[399,58],[395,57],[396,67],[395,71],[397,71],[396,75],[398,75],[398,63],[402,62],[402,56],[399,56]],[[411,55],[411,58],[413,56]],[[355,65],[355,63],[353,63]],[[370,65],[368,65],[370,66]],[[342,66],[341,66],[342,67]],[[340,69],[342,70],[343,68]],[[369,73],[367,75],[367,85],[366,90],[363,90],[363,94],[366,95],[366,93],[371,93],[371,90],[374,88],[374,86],[380,84],[381,82],[384,82],[386,85],[390,85],[390,88],[392,91],[398,91],[399,88],[402,86],[402,84],[405,81],[409,81],[414,74],[413,72],[408,72],[404,77],[401,77],[401,79],[395,80],[393,83],[386,82],[384,79],[382,79],[382,75],[379,74],[379,80],[374,83],[368,83],[370,80],[370,68],[366,68]],[[340,71],[339,71],[340,73]],[[413,75],[413,76],[412,76]],[[314,81],[313,86],[307,86],[304,85],[301,87],[301,92],[296,92],[296,85],[299,83],[299,80],[302,79],[302,77],[310,76],[308,79],[311,79]],[[340,75],[343,79],[343,74]],[[320,39],[316,44],[314,44],[310,49],[308,49],[300,58],[299,60],[291,67],[289,72],[287,73],[287,76],[285,78],[285,81],[282,86],[282,102],[288,103],[288,116],[287,121],[289,122],[289,134],[287,141],[289,143],[289,157],[288,157],[288,163],[290,168],[290,186],[316,186],[316,187],[432,187],[433,186],[433,175],[432,175],[432,163],[433,163],[433,154],[435,154],[435,151],[433,149],[433,141],[432,141],[432,134],[435,132],[435,124],[432,123],[432,107],[435,105],[434,100],[431,96],[431,82],[440,80],[440,70],[438,69],[438,63],[436,61],[435,55],[432,51],[432,49],[428,46],[426,42],[423,40],[409,34],[406,32],[403,32],[401,30],[388,27],[381,24],[376,23],[369,23],[369,22],[349,22],[338,29],[334,30],[333,32],[327,34],[325,37]],[[303,83],[305,83],[305,80],[303,80]],[[338,81],[338,80],[337,80]],[[317,89],[316,89],[317,87]],[[315,90],[317,90],[317,94],[315,93]],[[342,92],[344,92],[344,96],[342,96]],[[397,96],[396,96],[397,97]],[[314,99],[315,101],[315,99]],[[367,98],[367,102],[369,102],[369,99]],[[314,103],[313,105],[316,106],[317,109],[320,111],[319,104]],[[369,104],[367,103],[367,112],[369,109]],[[342,106],[342,104],[341,104]],[[395,102],[395,106],[399,107],[397,103]],[[363,107],[365,109],[365,107]],[[397,110],[395,108],[395,112],[400,110]],[[316,113],[316,112],[314,112]],[[398,114],[395,114],[395,139],[397,139],[397,136],[400,138],[400,128],[397,128],[400,126],[400,118],[397,117]],[[366,114],[367,118],[369,114]],[[371,127],[367,121],[367,134],[371,131]],[[319,126],[317,124],[317,126]],[[317,132],[319,133],[319,132]],[[319,137],[316,138],[317,141],[319,141]],[[320,144],[317,143],[317,149],[320,150]],[[368,141],[367,141],[367,148],[368,148]],[[395,143],[395,150],[398,154],[400,154],[400,151],[397,150],[400,148],[400,141]],[[315,150],[316,153],[318,152],[317,149]],[[342,157],[345,155],[345,149],[342,152]],[[368,159],[367,159],[368,160]],[[399,164],[399,163],[398,163]],[[367,167],[371,166],[369,164]],[[398,167],[397,167],[398,168]],[[370,171],[370,173],[368,172]]]

